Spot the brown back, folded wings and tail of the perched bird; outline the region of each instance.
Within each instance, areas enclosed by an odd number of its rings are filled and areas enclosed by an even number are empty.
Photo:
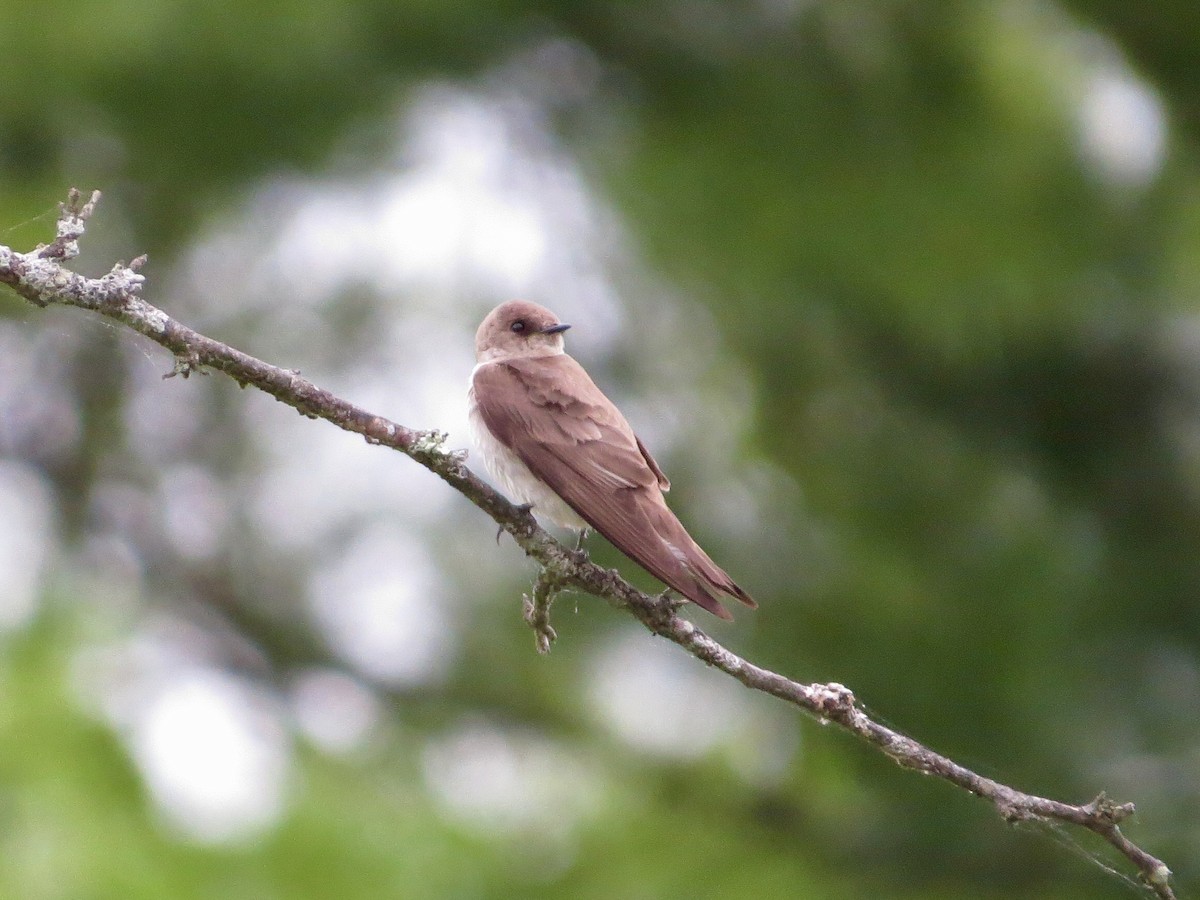
[[[625,418],[568,355],[480,366],[475,402],[488,430],[580,517],[664,583],[721,618],[716,600],[754,600],[667,508],[670,481]]]

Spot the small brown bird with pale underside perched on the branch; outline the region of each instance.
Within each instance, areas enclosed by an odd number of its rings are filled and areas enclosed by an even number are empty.
[[[757,604],[667,506],[671,482],[620,410],[568,355],[570,325],[510,300],[475,334],[472,439],[509,499],[554,524],[602,534],[668,588],[722,619],[721,598]]]

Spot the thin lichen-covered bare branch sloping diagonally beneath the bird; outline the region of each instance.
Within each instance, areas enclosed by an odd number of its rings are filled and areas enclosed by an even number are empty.
[[[322,390],[296,371],[271,366],[205,337],[148,304],[140,296],[144,278],[138,274],[144,258],[134,259],[128,265],[118,263],[102,278],[85,278],[65,269],[62,263],[78,253],[78,240],[98,199],[100,192],[96,191],[84,203],[79,192],[72,190],[67,203],[62,204],[58,235],[47,246],[30,253],[0,246],[0,282],[37,306],[78,306],[149,337],[175,358],[173,370],[164,377],[180,374],[186,378],[204,368],[224,372],[240,385],[252,384],[301,415],[325,419],[340,428],[361,434],[368,443],[398,450],[438,475],[490,515],[541,565],[533,595],[526,601],[526,619],[535,631],[540,650],[548,649],[554,638],[550,626],[550,605],[557,592],[571,587],[602,598],[625,608],[655,635],[679,644],[748,688],[779,697],[822,722],[841,726],[904,768],[937,775],[991,802],[1007,822],[1056,821],[1094,832],[1136,868],[1150,892],[1164,900],[1175,898],[1170,869],[1133,844],[1120,829],[1120,823],[1133,814],[1133,804],[1112,803],[1103,793],[1080,805],[1024,793],[978,775],[875,721],[858,706],[853,692],[841,684],[800,684],[742,659],[692,623],[679,618],[676,614],[678,604],[668,596],[644,594],[616,570],[602,569],[586,554],[558,544],[538,526],[527,509],[509,503],[476,478],[463,464],[466,454],[446,451],[444,433],[414,431],[373,415]]]

